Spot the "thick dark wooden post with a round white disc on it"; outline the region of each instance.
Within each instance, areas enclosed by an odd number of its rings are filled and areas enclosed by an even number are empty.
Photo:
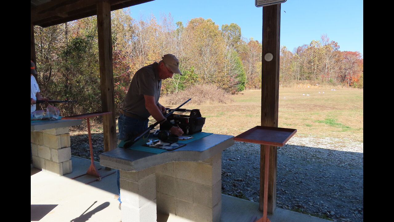
[[[279,101],[279,41],[281,30],[281,4],[263,8],[262,38],[262,83],[261,83],[261,126],[278,126]],[[267,53],[273,58],[264,59]],[[260,147],[260,211],[264,209],[264,169],[265,147]],[[268,213],[276,207],[277,147],[269,146]]]

